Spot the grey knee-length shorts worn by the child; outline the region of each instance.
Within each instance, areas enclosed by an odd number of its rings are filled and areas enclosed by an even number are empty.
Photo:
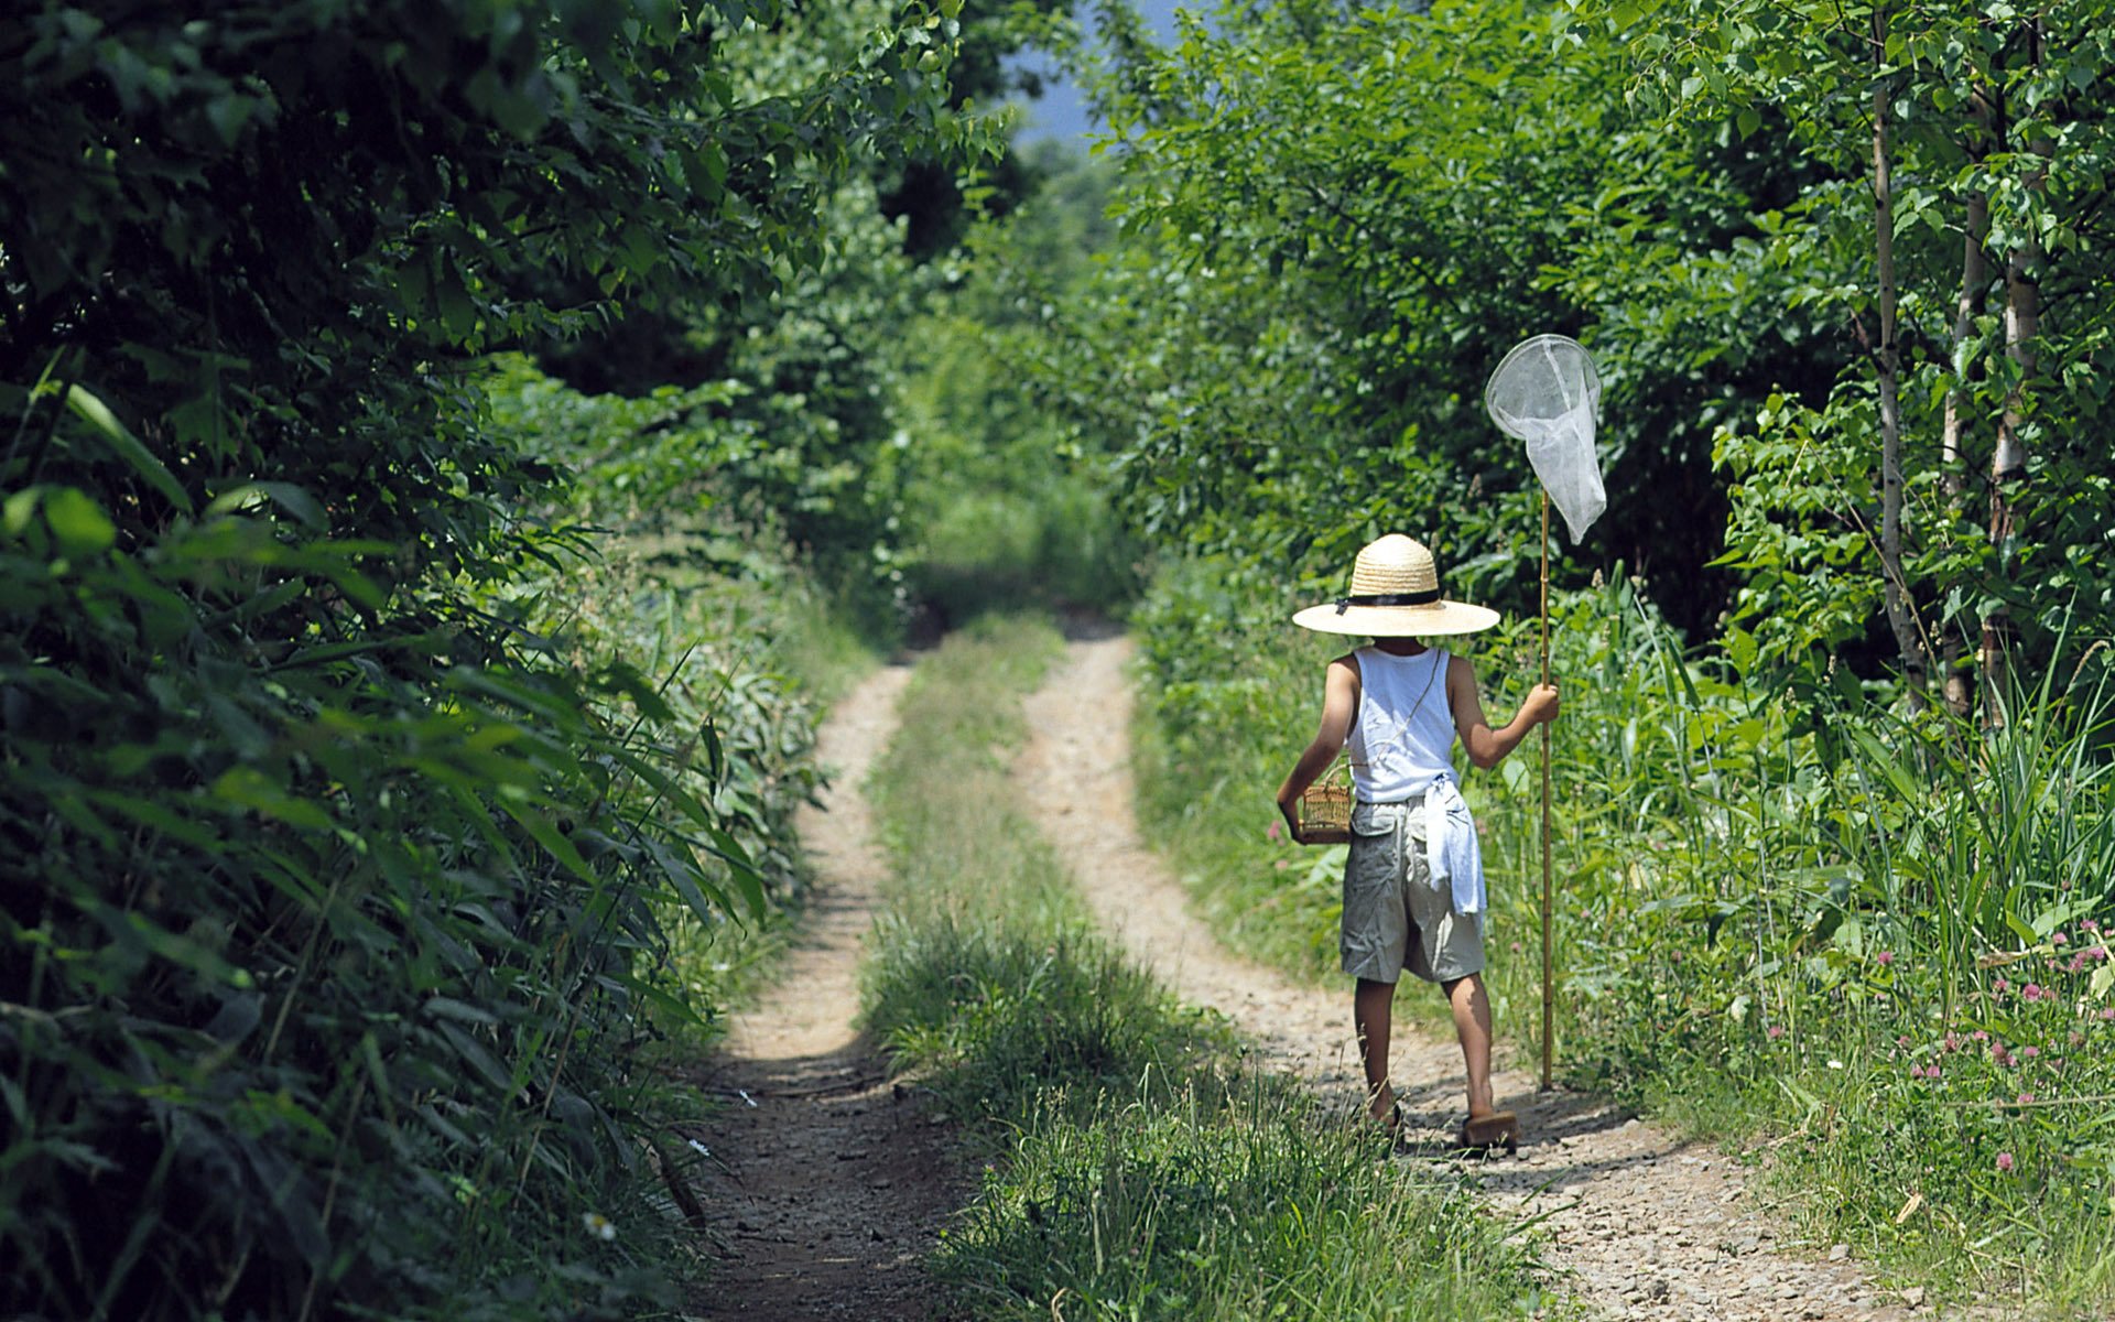
[[[1483,920],[1455,914],[1426,865],[1423,797],[1351,808],[1351,855],[1343,865],[1343,971],[1396,981],[1483,973]]]

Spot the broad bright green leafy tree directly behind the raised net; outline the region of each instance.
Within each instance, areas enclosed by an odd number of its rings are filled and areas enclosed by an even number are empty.
[[[1533,480],[1478,389],[1567,330],[1607,374],[1612,514],[1580,558],[1665,571],[1669,611],[1709,624],[1713,423],[1810,374],[1813,338],[1690,313],[1768,307],[1774,281],[1709,254],[1800,165],[1645,127],[1624,91],[1618,47],[1533,4],[1229,6],[1119,57],[1098,95],[1127,241],[1068,379],[1083,425],[1125,436],[1140,527],[1318,569],[1406,527],[1529,603]]]

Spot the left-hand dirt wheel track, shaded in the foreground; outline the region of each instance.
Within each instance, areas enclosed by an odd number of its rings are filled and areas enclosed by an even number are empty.
[[[964,1191],[948,1182],[943,1130],[893,1089],[852,1030],[859,945],[886,874],[861,783],[897,726],[907,666],[886,666],[823,726],[831,787],[804,810],[816,863],[802,937],[778,981],[736,1015],[702,1083],[730,1098],[694,1140],[723,1163],[700,1180],[721,1269],[692,1301],[704,1318],[928,1318],[922,1259]]]

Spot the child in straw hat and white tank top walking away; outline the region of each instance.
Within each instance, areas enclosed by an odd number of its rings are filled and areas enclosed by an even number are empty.
[[[1358,979],[1351,1022],[1366,1066],[1366,1108],[1390,1134],[1402,1108],[1387,1083],[1390,1009],[1409,969],[1453,1007],[1468,1070],[1459,1146],[1519,1142],[1519,1121],[1491,1098],[1491,998],[1483,986],[1485,884],[1476,823],[1461,802],[1453,740],[1493,768],[1527,732],[1557,719],[1542,683],[1500,730],[1483,715],[1466,658],[1417,639],[1481,632],[1497,611],[1440,596],[1432,552],[1390,533],[1358,552],[1351,592],[1292,618],[1301,628],[1364,635],[1371,647],[1328,664],[1322,728],[1277,787],[1277,810],[1301,838],[1299,800],[1339,749],[1351,764],[1351,855],[1343,871],[1343,971]]]

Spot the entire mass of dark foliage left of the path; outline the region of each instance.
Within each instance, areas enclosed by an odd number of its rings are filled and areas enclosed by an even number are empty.
[[[975,135],[941,8],[0,17],[8,1314],[580,1316],[664,1278],[643,1011],[709,1009],[668,918],[783,874],[804,723],[694,647],[696,594],[645,575],[626,618],[620,563],[577,613],[575,455],[516,444],[476,360],[761,317],[840,188]]]

